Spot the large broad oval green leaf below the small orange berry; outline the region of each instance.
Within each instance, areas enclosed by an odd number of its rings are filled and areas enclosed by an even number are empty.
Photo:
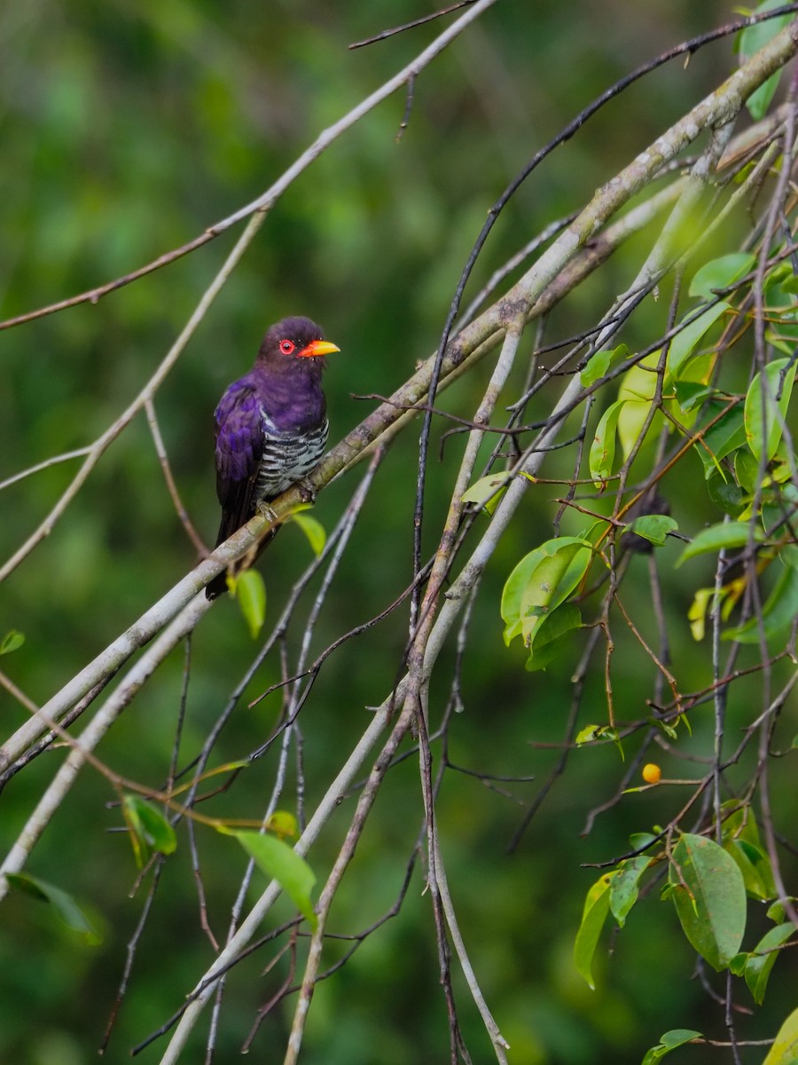
[[[674,848],[669,883],[689,943],[718,972],[727,968],[746,927],[746,889],[734,859],[714,840],[684,833]]]

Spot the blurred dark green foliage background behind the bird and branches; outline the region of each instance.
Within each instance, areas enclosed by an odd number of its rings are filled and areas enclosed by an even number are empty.
[[[0,11],[0,315],[21,314],[124,275],[259,196],[320,130],[400,69],[443,23],[356,51],[347,45],[429,10],[382,0],[5,4]],[[333,144],[278,202],[156,397],[180,492],[205,539],[217,526],[212,412],[227,383],[249,368],[271,322],[287,313],[309,314],[342,348],[327,376],[334,442],[371,408],[353,396],[389,393],[434,349],[486,211],[526,160],[613,81],[732,16],[725,0],[568,5],[501,0],[417,79],[400,141],[402,93]],[[656,71],[600,112],[547,160],[502,214],[467,296],[538,230],[581,207],[735,62],[727,39],[700,51],[686,68],[678,62]],[[236,227],[96,306],[0,332],[0,480],[84,447],[104,430],[157,366],[239,231]],[[732,230],[729,247],[735,239]],[[621,251],[600,278],[578,291],[552,330],[567,335],[595,322],[634,277],[642,247]],[[446,406],[468,416],[487,374],[481,367],[472,380],[460,382]],[[542,397],[536,413],[552,403]],[[436,440],[446,428],[436,429]],[[384,609],[412,576],[417,439],[413,426],[381,469],[320,617],[314,653]],[[431,464],[428,551],[434,548],[461,452],[462,444],[450,441],[444,460]],[[3,491],[3,560],[46,515],[74,470],[74,462],[55,465]],[[560,472],[567,470],[564,460]],[[328,528],[358,476],[342,478],[320,496],[314,513]],[[598,989],[584,985],[570,952],[584,892],[598,873],[580,864],[624,853],[629,833],[666,822],[683,792],[629,797],[599,817],[585,837],[587,810],[613,796],[625,767],[614,748],[576,752],[517,851],[506,853],[523,804],[556,764],[559,751],[545,744],[562,740],[570,700],[573,662],[545,675],[526,674],[521,649],[506,651],[502,644],[498,612],[512,567],[551,535],[554,495],[530,501],[486,574],[464,663],[465,709],[448,740],[456,765],[535,781],[503,785],[502,794],[472,776],[447,773],[439,805],[445,854],[466,941],[514,1065],[634,1063],[671,1028],[724,1038],[722,1007],[700,981],[691,980],[693,952],[669,904],[658,901],[656,887],[617,936],[613,955],[602,950]],[[697,513],[696,506],[691,498],[677,499],[675,515],[687,524],[718,520],[711,511]],[[670,552],[672,564],[677,547],[663,551]],[[284,530],[269,548],[262,569],[270,619],[310,558],[296,528]],[[3,585],[0,635],[12,627],[27,635],[3,668],[31,699],[45,702],[195,561],[139,415],[52,536]],[[630,587],[645,604],[646,561],[632,564]],[[695,573],[680,574],[668,588],[674,657],[684,690],[705,684],[709,669],[709,652],[689,641],[683,621],[695,580]],[[300,622],[287,636],[293,655]],[[365,708],[389,691],[405,635],[406,611],[400,610],[326,663],[300,719],[309,809],[365,727]],[[628,635],[628,643],[620,639],[618,711],[634,719],[645,712],[651,665],[633,653]],[[181,764],[196,754],[254,653],[234,604],[218,603],[192,644]],[[445,652],[435,681],[438,714],[453,656],[451,648]],[[163,782],[184,665],[183,651],[177,651],[100,747],[100,757],[116,772],[152,787]],[[253,709],[246,704],[279,676],[279,658],[271,655],[225,731],[215,764],[245,757],[269,735],[280,694]],[[730,730],[748,720],[759,698],[753,682],[748,689],[741,686],[730,707]],[[7,734],[26,715],[5,694],[0,706]],[[584,714],[585,721],[604,718],[598,674],[588,678]],[[792,715],[795,720],[794,707]],[[710,753],[709,711],[693,723],[693,750]],[[39,758],[5,789],[4,847],[62,756]],[[206,812],[259,817],[276,758],[273,751],[256,763]],[[663,763],[663,768],[666,775],[685,774],[683,764]],[[794,794],[787,774],[786,766],[772,770],[774,794],[783,802]],[[395,902],[421,825],[417,776],[412,757],[388,774],[331,930],[356,933]],[[119,824],[118,809],[107,805],[113,799],[96,773],[84,771],[28,867],[90,908],[104,933],[102,946],[86,948],[47,907],[29,899],[12,894],[3,904],[2,1062],[72,1065],[90,1060],[102,1039],[146,894],[145,886],[129,898],[136,871],[124,835],[107,831]],[[314,849],[319,878],[334,861],[351,809],[350,800]],[[222,938],[244,858],[233,841],[207,830],[198,835],[210,922]],[[262,886],[255,878],[255,888]],[[319,986],[303,1054],[309,1065],[446,1060],[445,1003],[421,887],[417,869],[400,914]],[[275,923],[289,915],[290,907],[281,903]],[[764,923],[752,928],[749,949],[764,929]],[[330,958],[345,947],[332,945]],[[178,1009],[212,956],[183,835],[162,876],[109,1060],[127,1059],[131,1046]],[[262,976],[268,957],[267,951],[255,954],[229,979],[220,1062],[237,1056],[256,1010],[286,976],[285,958]],[[765,1006],[741,1021],[745,1037],[772,1035],[795,1004],[791,965],[795,976],[795,961],[780,960]],[[459,973],[454,984],[475,1061],[489,1061]],[[745,989],[738,994],[752,1005]],[[293,999],[265,1021],[253,1044],[260,1060],[282,1060],[292,1007]],[[187,1061],[202,1060],[205,1031],[206,1022]],[[155,1044],[138,1060],[157,1061],[160,1048]],[[680,1053],[686,1062],[730,1060],[720,1056],[725,1052],[710,1059],[705,1047]],[[762,1051],[747,1054],[744,1061],[755,1062]]]

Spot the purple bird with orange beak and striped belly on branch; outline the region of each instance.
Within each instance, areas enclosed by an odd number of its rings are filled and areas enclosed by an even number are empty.
[[[214,413],[216,494],[221,523],[216,546],[306,476],[327,445],[329,422],[321,388],[325,356],[340,348],[305,317],[271,326],[254,365],[227,389]],[[277,528],[261,543],[261,550]],[[227,574],[205,589],[207,599],[228,590]]]

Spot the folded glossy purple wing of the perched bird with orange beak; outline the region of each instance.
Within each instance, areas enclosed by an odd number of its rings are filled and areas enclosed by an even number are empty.
[[[252,485],[263,454],[261,409],[247,378],[216,408],[216,494],[221,504],[217,546],[252,517]]]

